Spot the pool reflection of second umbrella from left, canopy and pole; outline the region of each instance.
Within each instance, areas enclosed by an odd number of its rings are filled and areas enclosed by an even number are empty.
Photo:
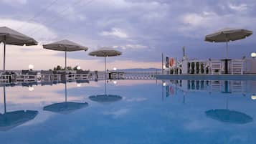
[[[74,112],[75,110],[79,110],[83,107],[87,107],[88,103],[81,102],[67,102],[67,82],[65,82],[65,102],[54,103],[52,105],[47,105],[43,108],[43,110],[57,112],[61,114],[69,114],[70,112]]]

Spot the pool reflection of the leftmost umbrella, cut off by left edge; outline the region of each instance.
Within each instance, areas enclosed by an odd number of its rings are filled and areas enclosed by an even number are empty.
[[[4,114],[0,114],[0,130],[6,131],[15,128],[18,125],[33,120],[37,116],[36,110],[16,110],[13,112],[6,112],[6,94],[4,87]]]

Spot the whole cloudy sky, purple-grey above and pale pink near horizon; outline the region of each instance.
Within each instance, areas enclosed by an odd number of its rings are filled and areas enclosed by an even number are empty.
[[[88,52],[103,46],[123,52],[108,59],[108,69],[159,68],[162,52],[180,59],[183,46],[190,58],[223,58],[225,44],[204,42],[204,36],[224,27],[255,32],[255,8],[254,0],[0,0],[0,26],[39,42],[35,47],[8,45],[6,68],[64,65],[64,52],[42,49],[42,44],[62,39],[85,45]],[[256,51],[253,39],[255,35],[231,42],[229,57],[250,57]],[[103,58],[88,52],[68,53],[68,65],[103,69]]]

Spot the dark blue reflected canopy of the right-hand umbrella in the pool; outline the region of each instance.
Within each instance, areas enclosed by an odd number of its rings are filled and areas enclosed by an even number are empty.
[[[207,117],[224,123],[245,124],[252,122],[253,118],[242,112],[227,109],[208,110]]]

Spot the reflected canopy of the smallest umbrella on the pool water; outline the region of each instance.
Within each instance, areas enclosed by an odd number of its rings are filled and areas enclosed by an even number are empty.
[[[122,97],[119,95],[92,95],[89,99],[95,102],[116,102],[122,100]]]

